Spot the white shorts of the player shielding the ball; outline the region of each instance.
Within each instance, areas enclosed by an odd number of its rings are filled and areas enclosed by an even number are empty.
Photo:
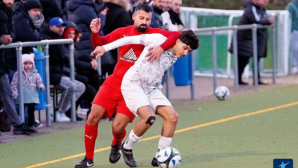
[[[156,89],[146,95],[141,86],[131,83],[122,83],[121,92],[126,106],[137,117],[138,108],[145,105],[150,105],[153,112],[155,112],[156,106],[158,105],[172,106],[170,101],[159,89]]]

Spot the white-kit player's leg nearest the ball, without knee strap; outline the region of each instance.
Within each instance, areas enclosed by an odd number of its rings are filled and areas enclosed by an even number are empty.
[[[158,166],[157,154],[160,149],[169,147],[178,122],[178,114],[174,110],[169,100],[162,94],[160,90],[155,90],[148,95],[152,110],[164,119],[161,136],[158,142],[156,155],[153,157],[151,165]]]

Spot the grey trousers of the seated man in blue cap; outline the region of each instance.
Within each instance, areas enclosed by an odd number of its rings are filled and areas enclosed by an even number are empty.
[[[73,82],[69,77],[62,77],[57,89],[62,91],[57,110],[60,113],[65,113],[65,111],[69,110],[71,107],[72,95],[75,93],[75,101],[77,101],[84,93],[85,85],[77,80]]]

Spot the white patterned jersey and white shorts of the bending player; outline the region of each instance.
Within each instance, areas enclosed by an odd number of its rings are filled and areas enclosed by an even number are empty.
[[[126,106],[136,116],[138,116],[138,108],[145,105],[150,105],[153,111],[158,105],[172,106],[160,89],[165,71],[176,62],[177,56],[171,48],[160,56],[157,64],[153,61],[149,63],[145,57],[149,52],[148,48],[159,46],[166,40],[165,36],[152,33],[127,36],[102,46],[109,51],[127,44],[145,45],[136,63],[125,73],[121,84],[121,92]]]

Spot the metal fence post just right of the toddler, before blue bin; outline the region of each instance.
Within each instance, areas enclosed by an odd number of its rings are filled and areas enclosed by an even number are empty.
[[[46,40],[47,41],[47,40]],[[50,112],[50,105],[51,105],[51,97],[50,97],[50,65],[49,65],[49,44],[44,46],[44,59],[45,59],[45,71],[46,71],[46,92],[47,92],[47,110],[46,110],[46,120],[47,120],[47,127],[52,125],[51,123],[51,112]],[[55,109],[53,109],[55,110]]]

